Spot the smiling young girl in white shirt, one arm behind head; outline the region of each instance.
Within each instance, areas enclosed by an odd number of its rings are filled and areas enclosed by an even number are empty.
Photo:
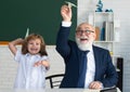
[[[22,50],[16,48],[22,44]],[[18,38],[9,43],[9,49],[18,63],[15,89],[42,89],[46,71],[50,68],[46,43],[40,35],[31,34],[25,40]]]

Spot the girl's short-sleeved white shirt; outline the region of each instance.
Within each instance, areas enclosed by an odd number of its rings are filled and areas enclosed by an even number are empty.
[[[48,60],[48,56],[31,55],[29,53],[23,55],[17,50],[15,61],[18,62],[17,75],[14,83],[15,89],[41,89],[46,88],[46,67],[34,67],[38,61]]]

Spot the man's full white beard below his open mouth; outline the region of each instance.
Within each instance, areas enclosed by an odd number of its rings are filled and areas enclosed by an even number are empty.
[[[92,41],[88,41],[87,43],[81,43],[80,38],[76,38],[76,43],[81,51],[87,51],[92,47]]]

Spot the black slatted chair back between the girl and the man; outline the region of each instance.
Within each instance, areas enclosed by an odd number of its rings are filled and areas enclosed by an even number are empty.
[[[64,77],[64,74],[56,74],[56,75],[51,75],[51,76],[46,77],[46,80],[49,80],[50,88],[54,89],[54,88],[60,87],[63,77]]]

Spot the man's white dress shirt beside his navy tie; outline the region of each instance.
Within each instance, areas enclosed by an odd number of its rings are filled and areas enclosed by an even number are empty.
[[[87,54],[88,56],[88,64],[87,64],[87,74],[86,74],[86,83],[84,88],[89,88],[90,82],[94,80],[95,76],[95,61],[94,61],[94,54],[92,47],[90,49],[90,52]]]

